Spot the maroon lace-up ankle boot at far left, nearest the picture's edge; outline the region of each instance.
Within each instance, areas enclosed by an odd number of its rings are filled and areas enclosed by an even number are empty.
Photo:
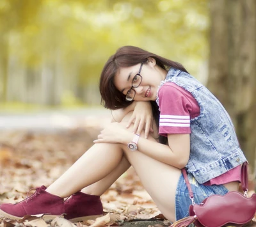
[[[50,220],[64,214],[63,198],[46,192],[45,189],[44,185],[37,187],[34,194],[19,203],[3,203],[0,206],[0,215],[19,220],[24,215],[45,214],[43,218]]]

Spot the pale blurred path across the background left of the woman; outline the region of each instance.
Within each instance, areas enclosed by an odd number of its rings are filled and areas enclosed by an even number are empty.
[[[77,127],[98,126],[111,116],[102,108],[87,108],[71,111],[41,111],[34,113],[0,113],[0,130],[56,131]]]

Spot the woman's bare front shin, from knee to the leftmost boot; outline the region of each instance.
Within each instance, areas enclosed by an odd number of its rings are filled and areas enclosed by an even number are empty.
[[[62,198],[68,197],[109,175],[118,166],[122,155],[120,145],[108,143],[93,145],[46,191]]]

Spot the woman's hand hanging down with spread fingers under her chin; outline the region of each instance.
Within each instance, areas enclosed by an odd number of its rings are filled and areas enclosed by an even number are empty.
[[[148,133],[153,132],[153,114],[150,102],[136,102],[132,116],[127,123],[127,128],[132,122],[134,122],[132,132],[140,135],[141,131],[145,129],[145,138],[147,139]]]

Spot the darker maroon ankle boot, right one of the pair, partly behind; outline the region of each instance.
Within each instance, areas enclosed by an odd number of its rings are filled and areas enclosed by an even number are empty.
[[[102,216],[103,207],[100,196],[93,196],[83,192],[76,192],[65,200],[65,218],[73,223],[94,220]]]

